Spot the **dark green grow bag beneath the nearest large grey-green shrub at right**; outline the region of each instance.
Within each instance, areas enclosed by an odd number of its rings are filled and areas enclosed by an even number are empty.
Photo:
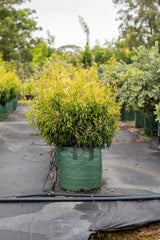
[[[145,117],[145,126],[144,131],[147,135],[158,135],[158,122],[156,122],[156,115],[150,114],[148,117]]]

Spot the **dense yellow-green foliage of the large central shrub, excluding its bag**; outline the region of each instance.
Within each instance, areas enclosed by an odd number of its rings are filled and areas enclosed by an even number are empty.
[[[100,82],[96,68],[66,69],[48,62],[36,82],[28,118],[55,146],[109,147],[119,104],[115,89]]]

